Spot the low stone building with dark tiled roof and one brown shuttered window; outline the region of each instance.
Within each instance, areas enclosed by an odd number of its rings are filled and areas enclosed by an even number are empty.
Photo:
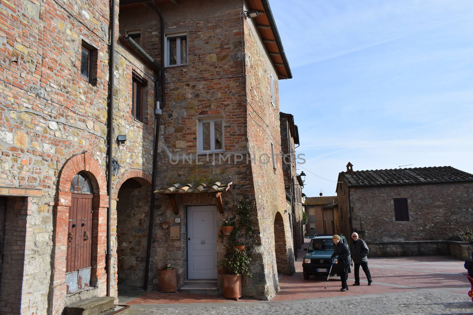
[[[473,175],[451,166],[347,170],[337,184],[340,229],[367,243],[447,240],[473,225]]]

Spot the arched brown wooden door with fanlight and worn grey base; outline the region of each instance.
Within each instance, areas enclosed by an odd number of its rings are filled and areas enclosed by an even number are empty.
[[[67,291],[87,288],[90,283],[92,253],[92,185],[87,175],[79,172],[72,179],[73,193],[69,211],[67,242]]]

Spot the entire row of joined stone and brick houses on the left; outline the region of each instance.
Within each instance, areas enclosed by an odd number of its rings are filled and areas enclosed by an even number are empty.
[[[156,288],[166,263],[181,287],[188,213],[216,234],[243,193],[258,211],[244,294],[271,298],[294,272],[278,99],[291,73],[268,2],[138,2],[0,3],[2,311]],[[153,194],[176,183],[205,192]]]

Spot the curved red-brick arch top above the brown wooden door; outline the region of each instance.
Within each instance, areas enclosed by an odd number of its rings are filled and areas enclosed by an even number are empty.
[[[84,152],[71,157],[64,164],[59,178],[59,191],[69,192],[70,183],[74,175],[80,171],[85,171],[92,182],[94,188],[94,195],[107,194],[107,180],[105,172],[98,163],[92,158],[90,152]]]

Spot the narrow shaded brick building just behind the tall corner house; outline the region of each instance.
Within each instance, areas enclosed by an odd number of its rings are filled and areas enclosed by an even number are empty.
[[[290,205],[288,209],[289,220],[294,247],[296,248],[295,253],[297,255],[299,248],[304,244],[304,227],[302,224],[302,188],[304,187],[304,182],[301,175],[297,174],[298,157],[296,155],[296,145],[299,146],[299,131],[298,127],[294,124],[293,115],[283,112],[279,114],[284,187],[286,189],[286,200]]]

